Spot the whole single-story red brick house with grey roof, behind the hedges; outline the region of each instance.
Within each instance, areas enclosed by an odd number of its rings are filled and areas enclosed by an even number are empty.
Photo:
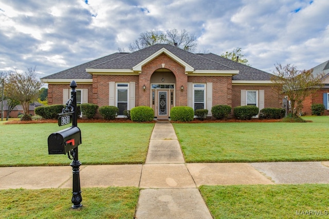
[[[156,44],[132,53],[114,53],[41,78],[48,83],[48,103],[65,104],[75,80],[78,103],[150,106],[158,119],[170,118],[175,106],[194,110],[215,105],[281,107],[271,74],[208,53],[195,54]]]

